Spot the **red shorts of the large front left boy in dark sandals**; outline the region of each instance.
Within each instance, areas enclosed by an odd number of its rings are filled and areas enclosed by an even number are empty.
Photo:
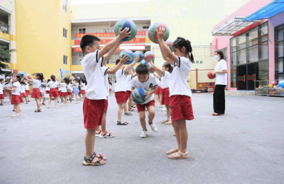
[[[84,98],[83,114],[85,129],[96,129],[99,125],[102,125],[104,101]]]

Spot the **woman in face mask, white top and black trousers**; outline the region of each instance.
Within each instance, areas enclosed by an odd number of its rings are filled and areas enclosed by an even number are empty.
[[[222,50],[215,52],[215,59],[218,61],[215,70],[212,74],[216,74],[215,90],[213,94],[214,113],[212,115],[225,114],[225,87],[227,84],[228,67],[224,60],[224,53]]]

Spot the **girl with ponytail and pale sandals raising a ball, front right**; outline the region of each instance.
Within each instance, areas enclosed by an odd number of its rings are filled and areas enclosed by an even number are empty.
[[[175,130],[175,137],[178,142],[178,148],[171,149],[167,152],[169,159],[187,159],[187,127],[186,120],[193,120],[193,111],[191,103],[191,90],[187,84],[190,76],[192,61],[192,47],[189,40],[178,38],[173,42],[173,53],[163,38],[165,37],[165,29],[157,30],[160,51],[163,59],[170,64],[177,64],[173,69],[169,79],[170,88],[170,106],[172,108],[172,123]]]

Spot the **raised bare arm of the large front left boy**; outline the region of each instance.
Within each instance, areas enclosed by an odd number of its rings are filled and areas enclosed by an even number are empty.
[[[99,58],[104,56],[104,54],[107,54],[112,48],[114,48],[122,39],[126,37],[130,37],[131,31],[129,31],[129,28],[125,28],[121,31],[122,28],[119,29],[119,35],[114,38],[114,40],[111,40],[111,42],[108,42],[104,47],[102,47],[102,50],[99,51]],[[129,31],[129,33],[127,33]]]

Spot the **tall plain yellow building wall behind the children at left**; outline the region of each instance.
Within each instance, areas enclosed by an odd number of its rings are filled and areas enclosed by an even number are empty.
[[[60,77],[60,69],[71,69],[70,53],[70,1],[67,12],[62,0],[16,0],[18,71],[28,74],[43,73],[45,79],[54,74]],[[63,27],[68,38],[63,37]],[[68,64],[63,64],[63,54]]]

